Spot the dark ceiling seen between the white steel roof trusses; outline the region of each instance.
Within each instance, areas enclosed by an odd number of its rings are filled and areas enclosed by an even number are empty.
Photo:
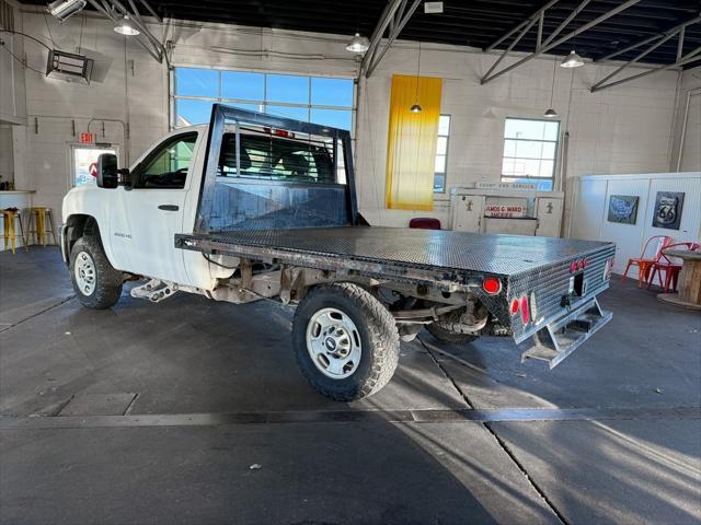
[[[175,19],[265,26],[352,35],[356,31],[369,36],[386,0],[149,0],[162,16]],[[566,35],[597,16],[621,5],[624,0],[593,0],[561,33]],[[43,4],[42,0],[24,3]],[[411,3],[411,0],[410,2]],[[402,31],[409,40],[457,44],[484,48],[536,12],[545,0],[444,0],[443,14],[425,14],[420,8]],[[560,0],[548,9],[543,34],[547,37],[581,3]],[[601,58],[655,34],[675,27],[701,13],[701,0],[641,0],[619,14],[596,25],[550,51],[564,55],[574,45],[584,57]],[[147,14],[146,12],[143,14]],[[533,50],[536,24],[516,46]],[[647,55],[643,62],[673,63],[678,38],[674,37]],[[506,40],[501,48],[509,44]],[[683,52],[701,46],[701,24],[687,27]],[[617,59],[631,59],[645,48]],[[701,57],[699,57],[701,60]],[[694,62],[693,65],[698,65]]]

